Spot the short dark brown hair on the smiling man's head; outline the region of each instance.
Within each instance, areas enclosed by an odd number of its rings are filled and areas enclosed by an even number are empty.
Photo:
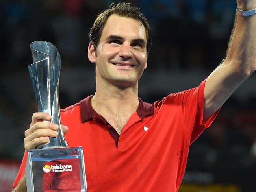
[[[141,13],[141,11],[139,11],[139,8],[132,6],[132,4],[130,3],[114,2],[108,7],[108,9],[98,14],[93,24],[93,27],[90,29],[89,40],[95,48],[95,55],[103,28],[106,25],[109,16],[114,14],[120,17],[132,18],[134,20],[137,20],[139,24],[141,24],[141,26],[144,26],[147,39],[147,53],[149,53],[152,39],[150,26],[145,16]]]

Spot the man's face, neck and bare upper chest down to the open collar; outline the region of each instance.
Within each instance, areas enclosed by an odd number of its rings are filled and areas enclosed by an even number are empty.
[[[120,134],[139,105],[138,81],[147,67],[144,26],[133,18],[111,15],[98,45],[89,44],[88,58],[96,63],[91,105]]]

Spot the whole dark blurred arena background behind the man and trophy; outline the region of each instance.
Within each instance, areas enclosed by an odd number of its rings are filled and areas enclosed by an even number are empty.
[[[150,22],[153,46],[139,82],[145,102],[196,87],[226,54],[235,0],[132,0]],[[60,104],[95,92],[87,34],[109,0],[0,1],[0,192],[10,191],[24,153],[24,131],[37,111],[27,66],[30,44],[43,40],[61,55]],[[255,190],[256,76],[223,105],[191,145],[180,192]]]

